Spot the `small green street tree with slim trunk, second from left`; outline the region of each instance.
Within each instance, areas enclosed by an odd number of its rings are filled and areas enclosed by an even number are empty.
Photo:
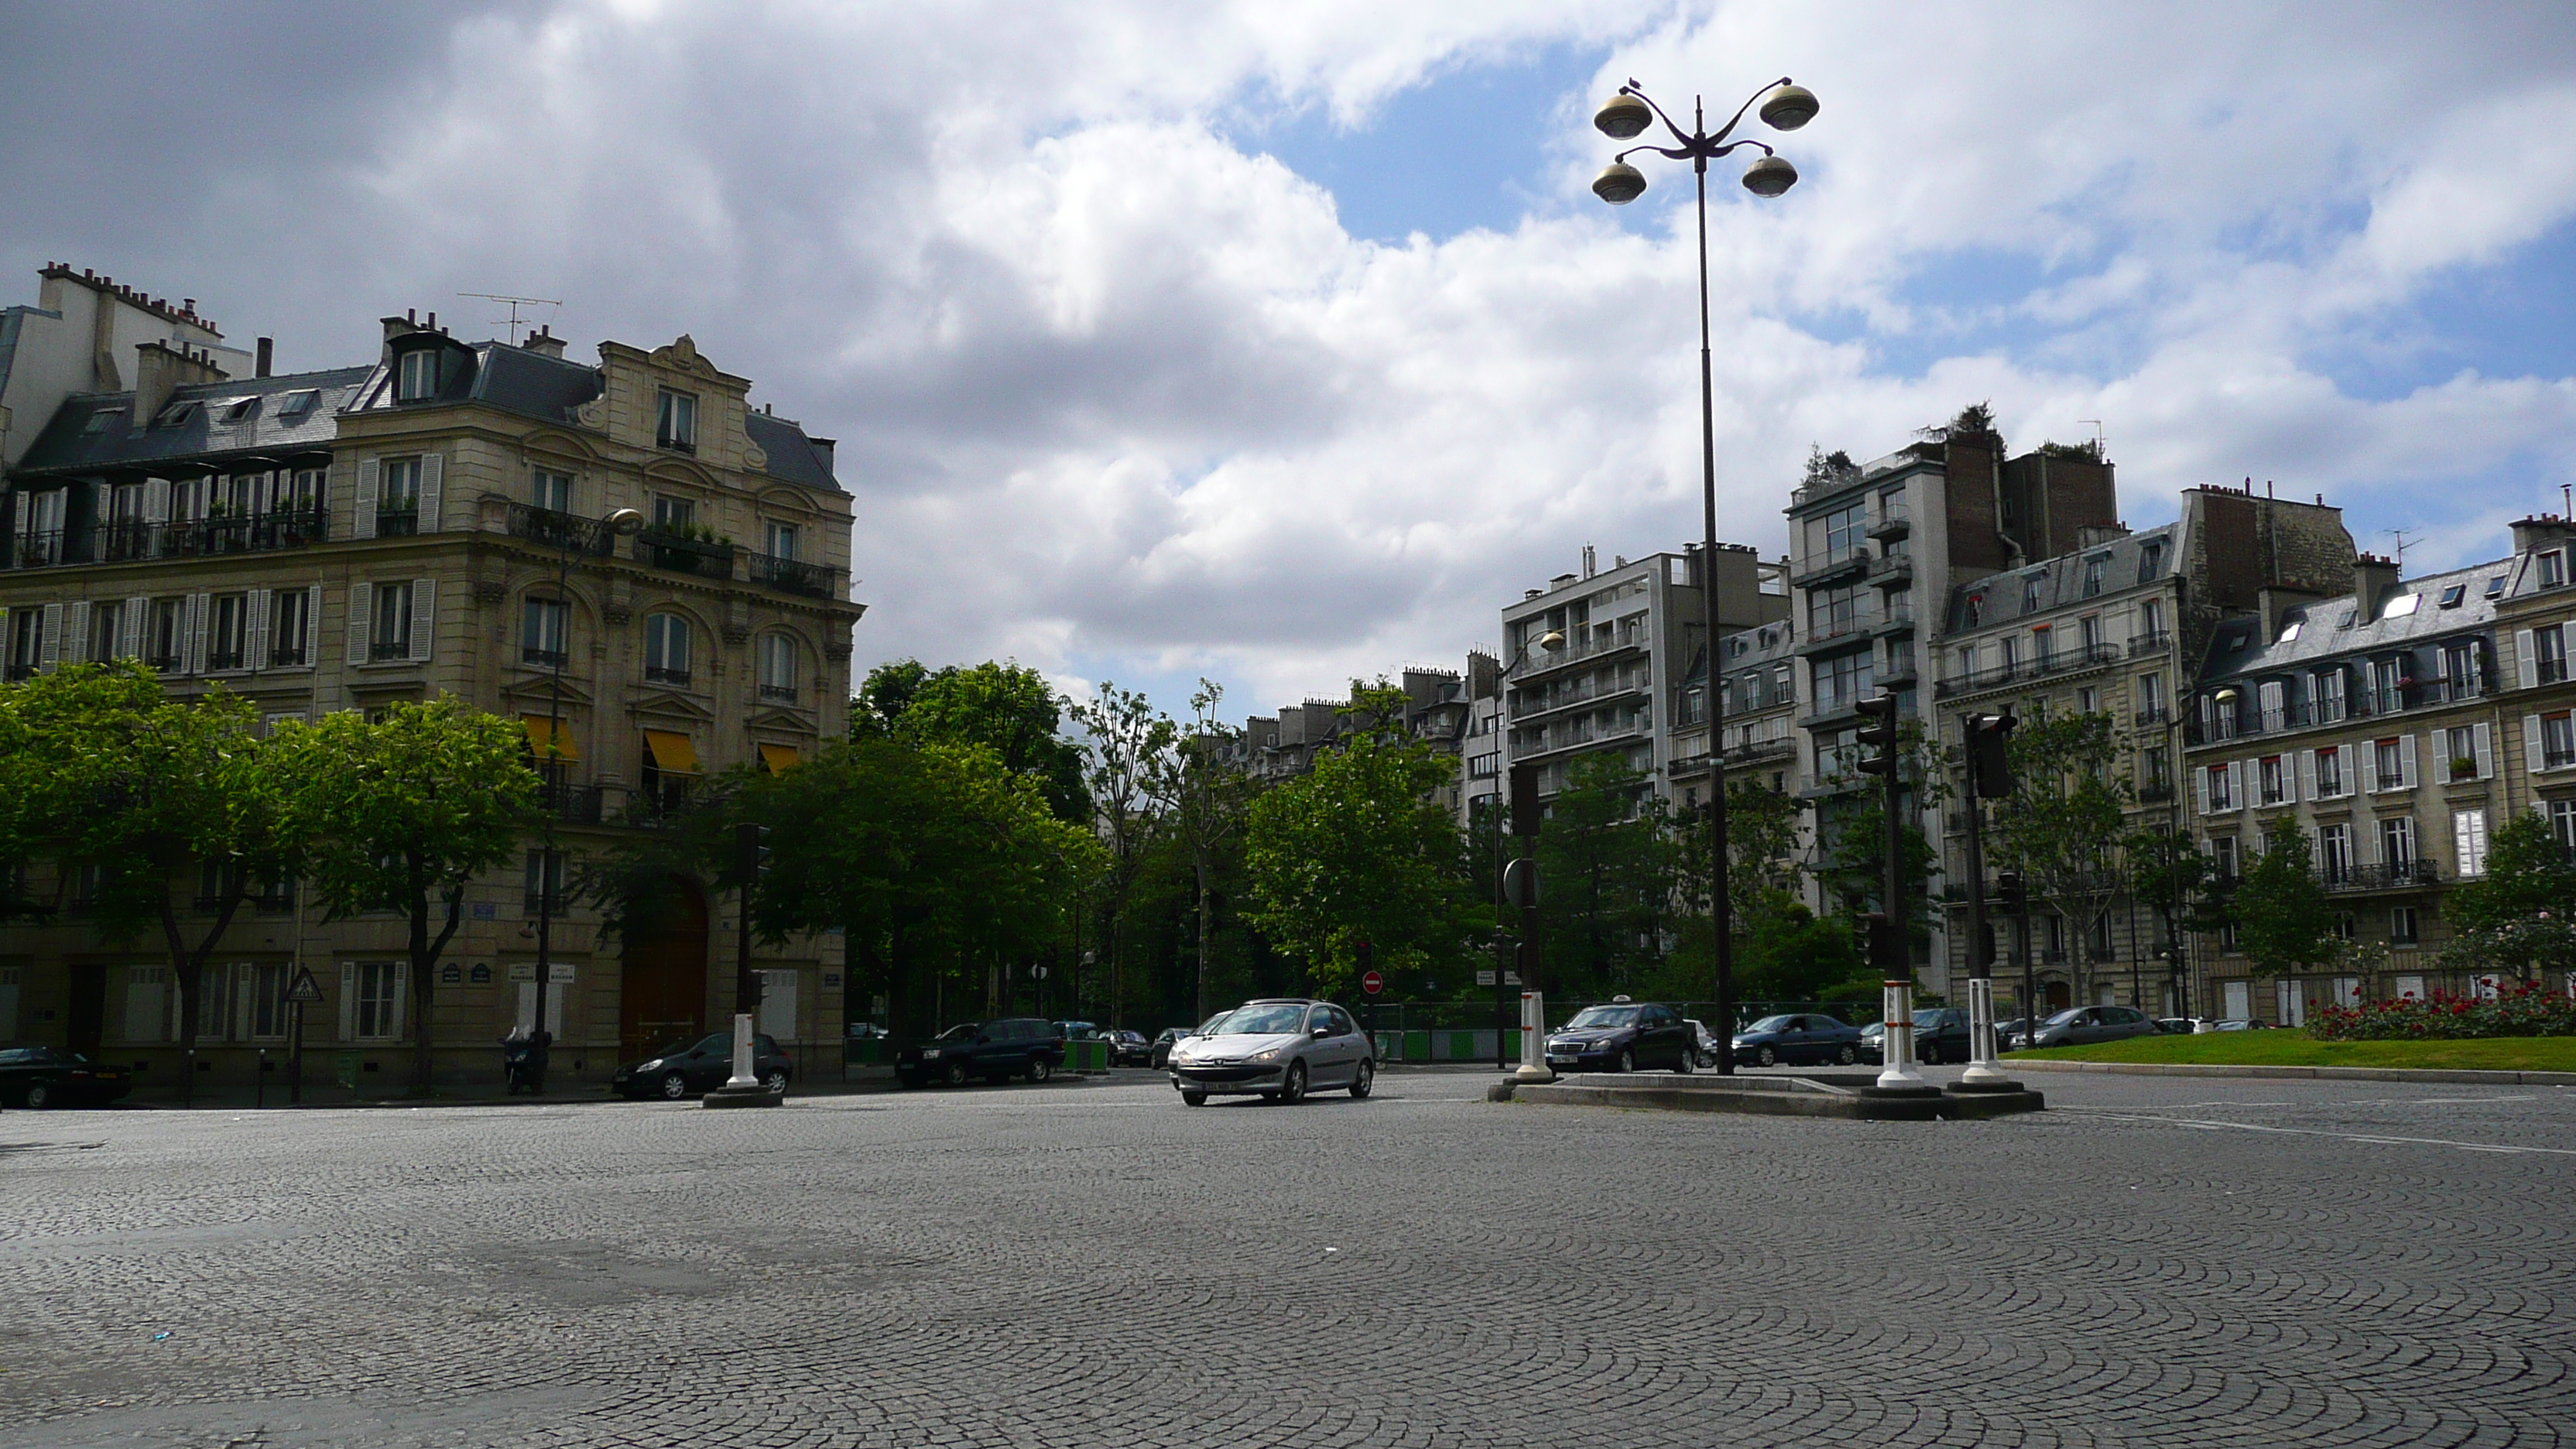
[[[330,918],[399,910],[410,926],[412,1091],[430,1088],[438,959],[464,918],[466,884],[520,846],[536,807],[526,735],[453,696],[281,724],[283,830]]]

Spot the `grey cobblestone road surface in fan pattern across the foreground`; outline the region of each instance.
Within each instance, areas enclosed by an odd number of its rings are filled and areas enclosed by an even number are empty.
[[[0,1119],[0,1446],[2561,1444],[2576,1091]]]

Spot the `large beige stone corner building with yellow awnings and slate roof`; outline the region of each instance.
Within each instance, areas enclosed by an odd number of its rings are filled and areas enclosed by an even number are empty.
[[[559,699],[572,763],[546,799],[572,856],[649,828],[714,771],[788,768],[845,727],[860,606],[832,441],[755,407],[685,335],[577,364],[546,333],[464,343],[407,315],[381,322],[366,364],[270,376],[265,340],[224,348],[193,307],[46,268],[41,304],[13,309],[0,340],[15,343],[0,345],[10,678],[139,657],[175,696],[224,686],[270,724],[456,694],[523,719],[531,743]],[[644,531],[600,526],[616,508]],[[469,890],[435,982],[443,1078],[495,1073],[492,1042],[533,1011],[538,895],[564,874],[536,846]],[[28,887],[59,910],[0,931],[0,1039],[167,1080],[162,951],[100,941],[77,879]],[[559,913],[556,1073],[603,1080],[729,1011],[729,900],[672,890],[672,923],[623,946]],[[209,967],[198,1080],[247,1080],[255,1052],[283,1044],[296,964],[327,995],[307,1047],[361,1083],[379,1065],[399,1080],[399,918],[325,923],[276,882]],[[770,972],[762,1029],[832,1049],[840,941],[755,967]]]

